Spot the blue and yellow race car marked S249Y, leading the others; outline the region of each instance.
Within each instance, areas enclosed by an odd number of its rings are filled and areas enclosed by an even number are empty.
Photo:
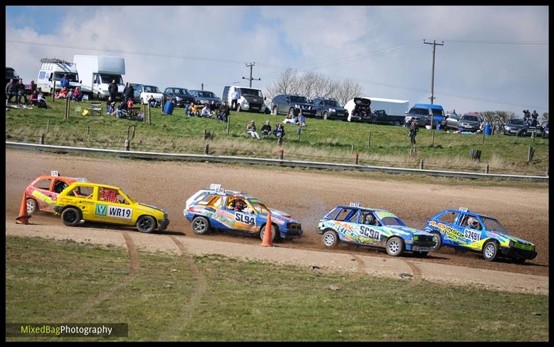
[[[496,218],[472,213],[467,207],[437,213],[427,221],[425,231],[435,235],[434,251],[444,244],[482,252],[488,261],[503,256],[515,263],[537,256],[535,244],[511,235]]]

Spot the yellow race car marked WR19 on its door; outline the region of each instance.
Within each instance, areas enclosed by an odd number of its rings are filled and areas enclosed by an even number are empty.
[[[67,226],[90,222],[136,225],[143,233],[165,230],[168,213],[156,206],[139,204],[120,188],[89,182],[74,182],[56,200],[56,213],[61,213]]]

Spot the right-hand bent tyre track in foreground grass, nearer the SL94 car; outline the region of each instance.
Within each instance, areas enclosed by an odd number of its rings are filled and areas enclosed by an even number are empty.
[[[190,321],[191,317],[193,317],[193,314],[200,303],[200,299],[202,299],[204,292],[206,292],[206,287],[208,286],[206,282],[206,276],[204,276],[204,274],[199,271],[193,255],[188,253],[184,244],[179,241],[176,236],[170,235],[169,238],[175,244],[177,244],[177,247],[181,252],[181,259],[184,260],[184,262],[190,269],[190,272],[193,274],[196,283],[195,290],[190,295],[188,303],[184,305],[184,308],[181,310],[181,312],[177,314],[174,323],[168,326],[165,331],[161,332],[161,334],[159,335],[161,339],[171,339],[172,337],[180,336],[180,332],[186,329],[188,321]]]

